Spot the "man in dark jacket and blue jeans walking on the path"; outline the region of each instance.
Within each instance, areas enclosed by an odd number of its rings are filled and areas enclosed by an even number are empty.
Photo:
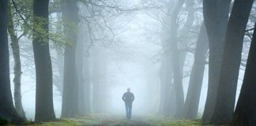
[[[127,88],[127,92],[122,95],[122,100],[126,105],[126,117],[130,120],[131,110],[134,102],[134,94],[130,92],[130,88]]]

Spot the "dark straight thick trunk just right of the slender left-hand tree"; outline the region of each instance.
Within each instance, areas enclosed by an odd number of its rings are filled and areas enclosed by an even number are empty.
[[[45,33],[33,32],[33,50],[36,65],[36,121],[55,120],[53,106],[53,83],[48,32],[49,1],[33,1],[34,29],[42,28]]]

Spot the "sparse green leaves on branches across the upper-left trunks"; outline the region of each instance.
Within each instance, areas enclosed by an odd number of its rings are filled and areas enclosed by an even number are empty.
[[[51,14],[49,15],[49,21],[43,19],[42,17],[33,17],[33,9],[32,9],[32,0],[15,0],[15,5],[11,3],[12,8],[12,17],[13,17],[13,24],[14,30],[16,33],[20,33],[20,35],[25,35],[29,39],[39,39],[41,44],[48,43],[48,39],[50,42],[54,43],[54,47],[62,51],[64,46],[73,45],[71,39],[68,39],[64,35],[63,32],[63,24],[67,25],[70,28],[76,29],[77,24],[69,23],[69,21],[62,21],[61,17],[56,18],[56,13],[53,14],[53,18],[55,20],[51,20]],[[50,2],[50,7],[60,6],[61,2],[54,1]],[[57,19],[57,20],[56,20]],[[49,31],[44,30],[44,26],[49,25]],[[76,31],[70,31],[70,33]],[[19,36],[19,35],[17,35]]]

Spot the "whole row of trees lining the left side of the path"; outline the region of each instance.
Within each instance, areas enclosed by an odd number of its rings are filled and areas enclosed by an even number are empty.
[[[79,12],[79,6],[86,9]],[[96,113],[102,113],[101,97],[103,95],[102,82],[95,81],[93,91],[90,91],[88,53],[92,41],[96,41],[96,29],[92,27],[107,26],[107,20],[102,15],[103,9],[115,10],[118,6],[113,6],[113,2],[87,2],[87,1],[1,1],[1,42],[3,44],[2,70],[1,70],[1,112],[0,117],[9,121],[19,122],[25,119],[24,109],[21,103],[21,55],[19,49],[19,39],[23,36],[32,36],[32,48],[36,69],[36,121],[55,120],[53,106],[53,70],[49,41],[61,46],[64,51],[63,71],[63,90],[62,91],[62,115],[61,117],[75,117],[85,113],[90,113],[91,109]],[[118,10],[116,10],[118,11]],[[50,28],[58,28],[51,24],[49,15],[51,13],[61,13],[61,33],[52,33]],[[114,11],[109,16],[116,14]],[[100,22],[101,21],[101,22]],[[8,22],[8,23],[7,23]],[[100,22],[100,23],[99,23]],[[104,22],[104,23],[102,23]],[[83,26],[85,38],[77,37],[78,27]],[[9,82],[9,50],[6,28],[10,35],[11,46],[13,49],[14,66],[14,102]],[[21,32],[20,32],[21,31]],[[106,30],[105,30],[106,31]],[[82,32],[82,31],[81,31]],[[97,31],[100,32],[100,31]],[[101,32],[104,32],[102,30]],[[100,34],[100,33],[99,33]],[[82,36],[82,35],[80,35]],[[90,36],[90,37],[88,37]],[[85,41],[85,42],[83,42]],[[91,41],[91,42],[90,42]],[[58,47],[59,48],[59,47]],[[99,53],[101,50],[96,50]],[[99,68],[99,54],[96,54],[94,68]],[[95,70],[97,71],[97,70]],[[99,70],[97,71],[99,72]],[[96,73],[98,74],[98,73]],[[101,80],[102,81],[102,80]],[[101,84],[100,84],[101,83]],[[58,87],[58,85],[56,85]],[[100,91],[99,91],[100,90]],[[93,105],[91,108],[90,92],[93,92]],[[97,106],[96,106],[97,105]]]

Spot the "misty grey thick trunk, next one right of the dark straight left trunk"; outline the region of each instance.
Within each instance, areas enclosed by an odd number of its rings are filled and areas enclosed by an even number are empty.
[[[77,0],[62,0],[62,20],[64,33],[71,45],[65,47],[64,52],[64,77],[62,95],[62,116],[75,117],[78,109],[78,81],[76,69],[76,43],[78,9]]]

